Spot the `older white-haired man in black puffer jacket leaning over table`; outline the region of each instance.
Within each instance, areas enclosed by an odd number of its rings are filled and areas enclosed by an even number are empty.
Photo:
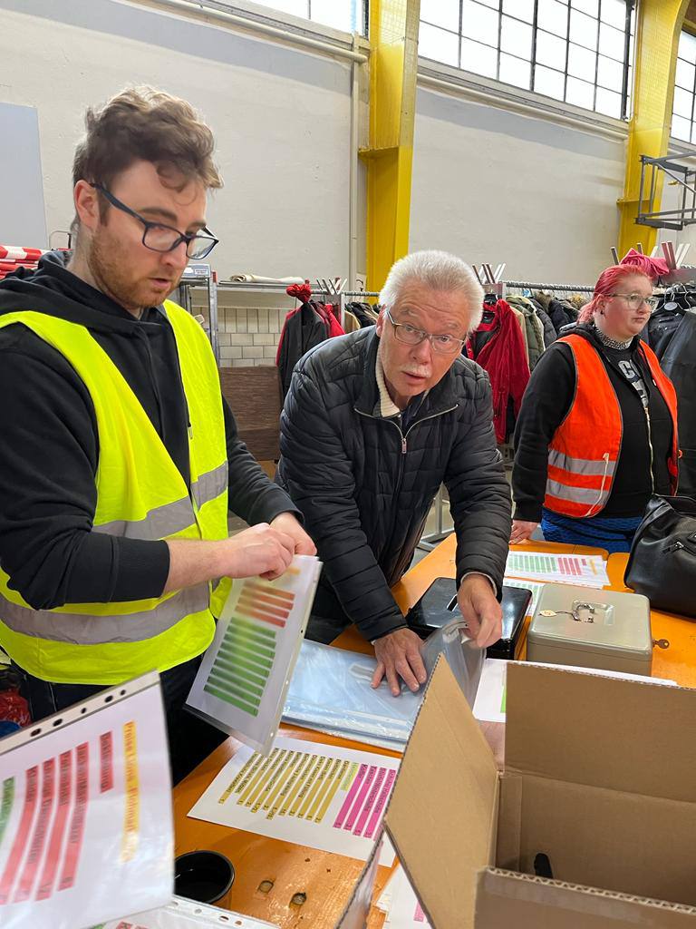
[[[309,638],[349,623],[386,674],[412,690],[426,679],[419,637],[390,587],[413,557],[445,483],[457,533],[458,604],[481,648],[500,637],[510,494],[496,448],[488,376],[462,358],[481,321],[471,268],[445,252],[397,261],[377,325],[309,351],[281,417],[277,480],[303,512],[324,570]]]

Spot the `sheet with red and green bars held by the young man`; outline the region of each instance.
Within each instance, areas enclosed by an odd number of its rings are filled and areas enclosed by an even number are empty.
[[[320,571],[296,555],[276,581],[235,581],[188,694],[189,709],[259,752],[276,737]]]

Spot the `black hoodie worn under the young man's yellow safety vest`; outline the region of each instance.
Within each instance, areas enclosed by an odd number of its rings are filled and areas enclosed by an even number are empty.
[[[122,373],[189,483],[187,404],[161,307],[140,320],[72,274],[63,254],[0,281],[0,315],[33,309],[87,327]],[[229,505],[253,524],[297,513],[238,438],[223,399]],[[71,364],[21,323],[0,329],[0,566],[35,609],[161,595],[169,548],[93,532],[97,416]]]

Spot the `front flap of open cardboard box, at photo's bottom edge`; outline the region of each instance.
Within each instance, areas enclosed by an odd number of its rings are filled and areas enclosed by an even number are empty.
[[[476,929],[694,929],[696,909],[640,896],[547,881],[513,871],[483,870]],[[439,927],[438,927],[439,929]]]

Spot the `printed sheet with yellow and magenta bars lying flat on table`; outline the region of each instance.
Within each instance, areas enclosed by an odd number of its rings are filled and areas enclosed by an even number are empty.
[[[278,738],[263,756],[242,746],[189,816],[367,860],[398,758]],[[380,864],[391,865],[384,844]]]

